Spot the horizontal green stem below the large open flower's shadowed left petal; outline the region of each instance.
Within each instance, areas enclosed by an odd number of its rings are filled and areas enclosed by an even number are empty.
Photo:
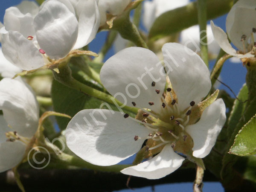
[[[96,171],[103,172],[120,172],[122,169],[125,169],[131,165],[113,165],[113,166],[96,166],[91,163],[88,163],[82,160],[79,157],[74,157],[69,154],[61,153],[56,157],[58,165],[66,165],[66,166],[76,166],[84,169],[93,169]]]

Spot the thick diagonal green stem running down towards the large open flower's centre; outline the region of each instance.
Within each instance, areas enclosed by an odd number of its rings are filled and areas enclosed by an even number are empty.
[[[119,102],[117,99],[115,99],[113,96],[107,94],[107,93],[103,93],[99,90],[96,90],[92,87],[89,87],[85,84],[82,84],[81,82],[77,81],[76,79],[74,79],[71,76],[71,70],[68,67],[67,64],[61,64],[58,66],[58,70],[59,73],[56,73],[55,71],[53,71],[53,75],[55,77],[55,79],[57,81],[59,81],[60,83],[81,91],[84,94],[96,97],[98,99],[101,99],[102,101],[111,103],[113,105],[118,105],[116,107],[122,106],[123,104],[121,102]],[[138,109],[137,108],[132,108],[132,107],[128,107],[128,106],[124,106],[123,109],[131,111],[132,113],[137,114]]]

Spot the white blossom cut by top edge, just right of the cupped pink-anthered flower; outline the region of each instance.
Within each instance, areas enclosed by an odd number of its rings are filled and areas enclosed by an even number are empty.
[[[105,25],[107,21],[106,14],[120,15],[131,0],[99,0],[100,26]]]

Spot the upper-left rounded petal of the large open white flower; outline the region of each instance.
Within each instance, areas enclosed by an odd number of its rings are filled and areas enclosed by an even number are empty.
[[[147,69],[147,70],[146,70]],[[100,72],[102,84],[124,105],[132,102],[160,113],[161,95],[166,83],[163,67],[154,52],[141,47],[129,47],[116,53],[103,65]],[[151,86],[152,81],[156,84]],[[160,90],[157,94],[155,90]],[[148,102],[154,102],[150,106]]]

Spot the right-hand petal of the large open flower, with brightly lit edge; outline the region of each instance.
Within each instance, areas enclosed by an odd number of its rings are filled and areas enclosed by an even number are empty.
[[[194,142],[193,156],[204,158],[210,153],[225,121],[225,104],[222,99],[217,99],[204,110],[197,123],[186,127],[186,132]]]

